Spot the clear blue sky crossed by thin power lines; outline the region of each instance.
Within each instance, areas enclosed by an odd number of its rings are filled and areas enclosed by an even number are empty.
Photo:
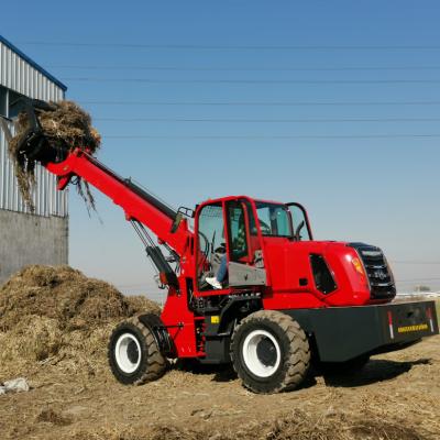
[[[380,245],[400,290],[440,289],[438,1],[20,8],[2,4],[20,24],[1,34],[90,111],[118,173],[174,206],[300,201],[317,239]],[[70,264],[155,293],[123,213],[97,199],[103,224],[70,196]]]

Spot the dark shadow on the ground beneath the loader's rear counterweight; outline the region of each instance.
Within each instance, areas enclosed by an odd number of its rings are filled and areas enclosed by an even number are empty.
[[[356,372],[324,373],[322,375],[326,385],[336,387],[356,387],[391,381],[402,374],[408,373],[413,366],[429,365],[430,359],[418,359],[416,361],[398,362],[388,360],[371,360],[362,370]]]

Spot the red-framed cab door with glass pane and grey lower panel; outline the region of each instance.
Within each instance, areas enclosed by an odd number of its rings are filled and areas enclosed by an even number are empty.
[[[264,286],[266,271],[252,204],[246,199],[229,200],[226,215],[230,287]]]

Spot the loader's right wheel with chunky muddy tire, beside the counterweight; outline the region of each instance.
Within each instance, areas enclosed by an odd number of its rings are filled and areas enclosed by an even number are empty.
[[[306,333],[293,318],[261,310],[235,328],[231,358],[246,388],[270,394],[295,389],[304,382],[310,349]]]

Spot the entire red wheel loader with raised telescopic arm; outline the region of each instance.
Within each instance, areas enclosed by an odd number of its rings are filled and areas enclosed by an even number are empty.
[[[87,151],[54,148],[30,120],[21,154],[58,176],[59,190],[79,176],[119,205],[167,289],[161,316],[136,316],[110,338],[121,383],[156,380],[167,359],[187,359],[232,363],[244,386],[276,393],[300,386],[311,362],[360,369],[438,334],[433,301],[393,302],[381,249],[315,241],[301,205],[230,196],[174,210]],[[213,288],[206,278],[222,264]]]

